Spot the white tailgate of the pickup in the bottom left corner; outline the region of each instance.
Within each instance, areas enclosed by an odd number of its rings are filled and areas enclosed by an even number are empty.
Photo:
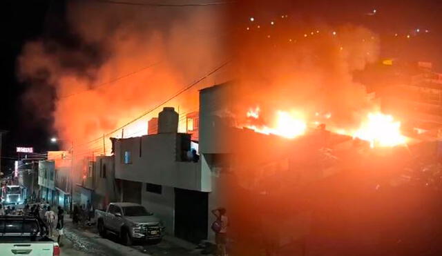
[[[54,242],[6,242],[0,244],[1,256],[52,256]]]

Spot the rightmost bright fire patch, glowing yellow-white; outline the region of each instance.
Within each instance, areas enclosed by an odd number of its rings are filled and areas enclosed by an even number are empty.
[[[401,134],[401,122],[394,121],[391,115],[380,112],[369,113],[361,127],[354,132],[353,137],[369,141],[370,146],[388,147],[405,144]]]

